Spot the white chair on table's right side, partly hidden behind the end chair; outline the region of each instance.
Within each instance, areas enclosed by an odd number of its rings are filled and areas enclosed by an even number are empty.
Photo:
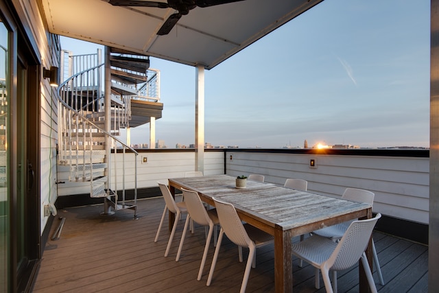
[[[342,198],[344,200],[352,200],[354,202],[367,202],[369,204],[373,204],[375,194],[368,190],[348,187],[344,190]],[[349,224],[351,224],[351,222],[352,221],[348,221],[341,224],[336,224],[333,226],[321,228],[319,230],[313,231],[313,234],[331,238],[333,241],[339,241],[343,237],[344,233],[346,232],[346,229],[348,228]],[[379,283],[381,283],[381,285],[384,285],[383,274],[381,272],[381,267],[379,266],[377,249],[375,248],[375,242],[373,241],[373,238],[372,238],[372,255],[373,255],[373,260],[375,261],[375,266],[377,266]],[[318,281],[318,272],[316,274],[316,288],[317,289],[320,288],[320,282]]]

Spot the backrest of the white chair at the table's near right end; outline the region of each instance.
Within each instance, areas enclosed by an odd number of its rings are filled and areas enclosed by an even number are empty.
[[[327,260],[328,268],[346,270],[357,263],[368,246],[373,228],[379,218],[381,218],[381,213],[372,219],[352,222]]]

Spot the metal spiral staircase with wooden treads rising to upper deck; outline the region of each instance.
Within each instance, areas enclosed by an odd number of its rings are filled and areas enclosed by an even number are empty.
[[[160,72],[149,67],[149,57],[111,47],[104,62],[101,50],[80,56],[62,51],[58,172],[89,183],[90,196],[104,198],[103,214],[132,209],[137,218],[138,153],[117,136],[121,128],[161,118]],[[127,199],[127,189],[134,198]]]

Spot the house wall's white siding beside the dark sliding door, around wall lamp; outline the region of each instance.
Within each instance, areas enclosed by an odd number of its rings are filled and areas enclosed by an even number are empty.
[[[42,66],[49,69],[51,66],[59,67],[56,54],[58,49],[58,36],[49,34],[43,25],[36,1],[20,1],[25,12],[29,29],[34,36]],[[41,73],[41,76],[43,74]],[[40,209],[41,232],[45,228],[48,217],[44,216],[45,204],[56,201],[56,144],[58,142],[58,106],[56,89],[49,86],[48,80],[41,80],[40,95]]]

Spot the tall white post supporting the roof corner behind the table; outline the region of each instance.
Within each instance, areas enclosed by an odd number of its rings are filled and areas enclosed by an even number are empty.
[[[195,69],[195,171],[204,173],[204,66]]]

